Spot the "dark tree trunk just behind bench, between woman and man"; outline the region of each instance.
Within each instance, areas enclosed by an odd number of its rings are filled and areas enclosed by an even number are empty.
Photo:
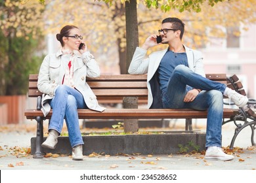
[[[137,0],[125,1],[125,21],[126,21],[126,73],[133,58],[136,47],[139,45],[138,20],[137,20]],[[138,97],[124,97],[124,108],[138,108]],[[137,132],[139,130],[138,120],[124,120],[125,132]]]

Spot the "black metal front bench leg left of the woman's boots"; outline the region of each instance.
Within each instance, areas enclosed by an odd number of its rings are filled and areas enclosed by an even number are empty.
[[[37,121],[37,136],[35,139],[35,155],[33,158],[43,158],[41,146],[43,142],[43,119],[37,116],[35,120]]]

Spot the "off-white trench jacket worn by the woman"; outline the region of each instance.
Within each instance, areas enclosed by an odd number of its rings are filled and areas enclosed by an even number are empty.
[[[42,97],[42,112],[45,116],[51,110],[49,99],[53,99],[54,91],[62,84],[62,80],[68,67],[70,56],[62,54],[59,50],[56,54],[48,54],[43,59],[41,64],[37,88],[43,93]],[[88,108],[102,112],[104,107],[98,105],[96,96],[86,82],[86,77],[95,78],[100,76],[100,68],[90,52],[85,52],[82,55],[74,52],[74,84],[75,88],[83,95],[85,104]]]

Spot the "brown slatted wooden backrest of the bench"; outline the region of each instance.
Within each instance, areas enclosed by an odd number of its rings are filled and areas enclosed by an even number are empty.
[[[42,95],[37,89],[37,76],[30,75],[29,97]],[[97,99],[121,99],[122,97],[137,96],[139,99],[147,99],[146,88],[147,75],[102,75],[98,78],[87,78],[87,83],[97,96]],[[227,84],[226,74],[207,74],[207,78]]]

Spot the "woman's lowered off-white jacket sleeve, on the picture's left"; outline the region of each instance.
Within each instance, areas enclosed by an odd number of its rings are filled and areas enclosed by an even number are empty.
[[[49,65],[50,65],[50,56],[45,56],[43,59],[43,63],[41,64],[38,81],[37,81],[37,88],[40,92],[46,93],[51,97],[54,96],[54,91],[57,88],[56,82],[51,82],[50,75],[49,75]]]

